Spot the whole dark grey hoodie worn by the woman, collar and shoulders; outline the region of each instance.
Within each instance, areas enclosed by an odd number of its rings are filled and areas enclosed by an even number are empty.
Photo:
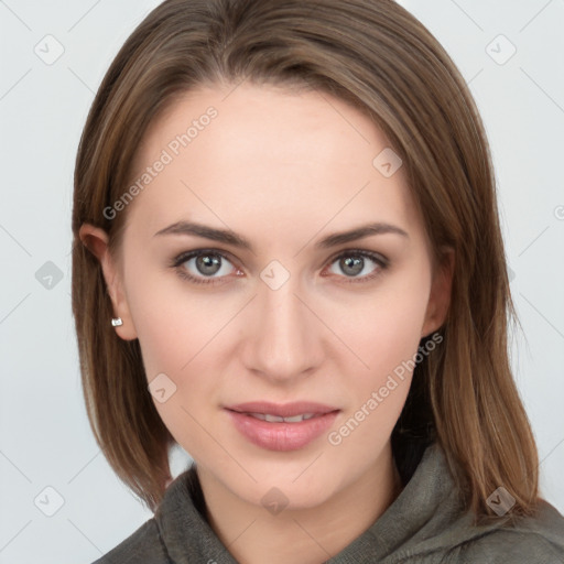
[[[208,525],[193,465],[169,486],[155,516],[94,564],[236,564]],[[534,519],[473,527],[444,453],[433,443],[384,513],[327,561],[369,563],[564,564],[564,517],[542,501]]]

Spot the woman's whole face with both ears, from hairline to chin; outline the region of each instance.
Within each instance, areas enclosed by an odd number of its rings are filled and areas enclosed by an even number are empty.
[[[139,338],[154,404],[202,471],[251,503],[276,487],[314,507],[389,452],[447,286],[372,122],[325,94],[229,91],[163,115],[135,162],[150,181],[108,212],[128,214],[119,264],[102,258],[116,330]]]

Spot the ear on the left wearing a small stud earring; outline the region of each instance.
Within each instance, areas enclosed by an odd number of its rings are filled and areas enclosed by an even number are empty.
[[[98,259],[100,262],[104,279],[108,294],[113,305],[116,317],[121,317],[123,325],[116,327],[116,333],[123,340],[132,340],[137,338],[135,327],[131,319],[129,305],[126,293],[123,292],[123,280],[120,269],[108,249],[108,234],[90,224],[83,224],[78,231],[83,245]],[[111,319],[108,319],[110,325]]]

